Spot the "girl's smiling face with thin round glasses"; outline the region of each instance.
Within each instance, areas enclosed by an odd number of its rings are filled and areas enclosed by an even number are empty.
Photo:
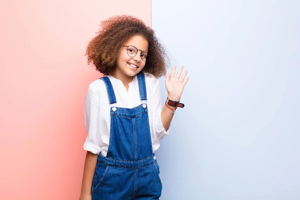
[[[132,78],[145,66],[146,62],[143,60],[148,51],[148,41],[143,36],[133,35],[122,45],[126,46],[120,47],[113,76],[119,79]],[[136,49],[132,46],[138,49],[136,55]]]

